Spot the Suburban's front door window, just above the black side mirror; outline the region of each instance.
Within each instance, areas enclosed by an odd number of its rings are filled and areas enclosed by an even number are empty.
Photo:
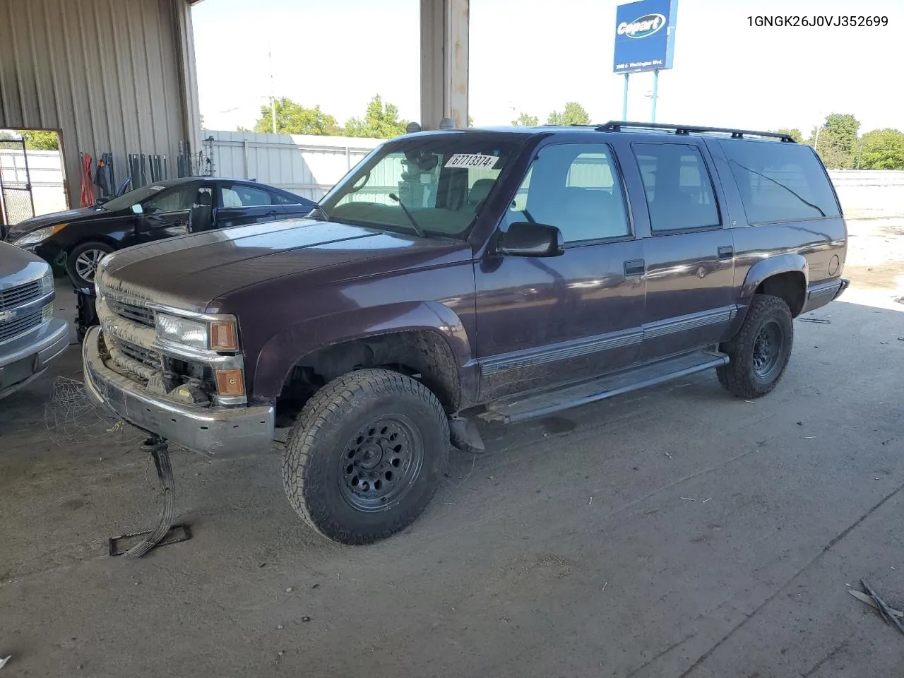
[[[541,148],[505,221],[555,226],[566,243],[631,234],[625,197],[606,144],[553,144]]]

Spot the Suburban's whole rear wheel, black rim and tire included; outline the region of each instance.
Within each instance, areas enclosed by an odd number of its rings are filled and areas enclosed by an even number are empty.
[[[755,295],[738,334],[720,345],[731,359],[716,370],[720,384],[738,398],[761,398],[785,373],[793,344],[794,320],[785,300]]]

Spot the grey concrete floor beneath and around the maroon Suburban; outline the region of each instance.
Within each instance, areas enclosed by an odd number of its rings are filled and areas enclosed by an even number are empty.
[[[155,520],[155,472],[134,432],[45,412],[72,349],[0,404],[3,673],[900,675],[904,636],[847,590],[904,607],[904,221],[851,230],[854,286],[796,323],[769,397],[703,374],[485,428],[371,547],[308,532],[276,452],[179,453],[193,539],[109,558]]]

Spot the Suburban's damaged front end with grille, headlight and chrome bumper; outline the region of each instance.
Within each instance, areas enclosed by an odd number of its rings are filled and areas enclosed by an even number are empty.
[[[82,344],[86,390],[118,417],[212,457],[268,448],[274,407],[247,404],[231,316],[155,305],[97,282],[100,325]]]

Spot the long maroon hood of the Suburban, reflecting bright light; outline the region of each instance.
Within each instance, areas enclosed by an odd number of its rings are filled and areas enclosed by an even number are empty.
[[[470,256],[466,242],[295,219],[204,231],[119,250],[103,259],[96,283],[101,294],[120,292],[174,308],[216,312],[217,299],[244,287],[287,277],[305,278],[305,287],[360,278],[424,250]],[[375,259],[382,259],[383,265],[374,267]]]

